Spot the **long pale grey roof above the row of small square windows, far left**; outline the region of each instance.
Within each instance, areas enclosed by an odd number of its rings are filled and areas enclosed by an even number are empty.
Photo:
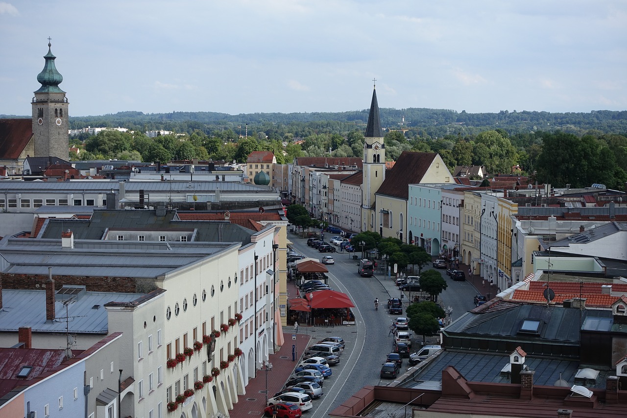
[[[0,181],[0,192],[3,191],[72,191],[76,193],[107,193],[118,191],[120,183],[124,183],[127,193],[203,193],[219,189],[221,193],[248,192],[276,194],[270,186],[259,186],[253,183],[237,183],[234,181],[124,181],[119,180],[71,180],[71,181]]]

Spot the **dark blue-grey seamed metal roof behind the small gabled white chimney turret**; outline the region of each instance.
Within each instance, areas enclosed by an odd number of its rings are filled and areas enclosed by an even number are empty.
[[[573,309],[574,310],[574,309]],[[442,370],[453,366],[470,382],[511,383],[508,374],[501,373],[503,367],[509,364],[508,355],[493,355],[483,353],[465,353],[459,351],[442,351],[428,366],[423,368],[413,380],[409,380],[406,387],[416,387],[422,382],[441,382]],[[525,365],[535,370],[534,385],[552,386],[560,378],[574,385],[574,377],[579,370],[579,362],[566,360],[548,360],[542,358],[525,357]],[[601,372],[596,382],[586,384],[586,387],[595,389],[605,388],[605,377],[608,372]]]

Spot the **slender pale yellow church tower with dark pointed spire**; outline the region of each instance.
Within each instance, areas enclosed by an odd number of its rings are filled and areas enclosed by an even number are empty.
[[[376,85],[372,89],[370,114],[364,134],[363,180],[361,185],[361,230],[376,231],[374,213],[374,193],[379,190],[386,178],[386,146],[383,143],[383,129],[379,117],[379,103],[377,102]]]

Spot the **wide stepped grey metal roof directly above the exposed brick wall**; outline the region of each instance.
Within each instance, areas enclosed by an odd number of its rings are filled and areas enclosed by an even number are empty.
[[[60,239],[5,237],[0,241],[1,271],[46,275],[52,265],[60,276],[155,278],[230,245],[75,240],[73,249],[63,249]]]

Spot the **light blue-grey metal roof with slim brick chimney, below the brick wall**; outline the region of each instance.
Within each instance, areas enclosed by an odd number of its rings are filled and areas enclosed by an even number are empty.
[[[34,333],[65,333],[67,316],[70,333],[107,334],[107,309],[104,304],[111,301],[130,302],[145,296],[140,293],[85,292],[68,304],[67,313],[63,302],[56,301],[58,319],[48,323],[45,290],[3,289],[2,292],[0,331],[17,331],[20,326],[29,326]]]

